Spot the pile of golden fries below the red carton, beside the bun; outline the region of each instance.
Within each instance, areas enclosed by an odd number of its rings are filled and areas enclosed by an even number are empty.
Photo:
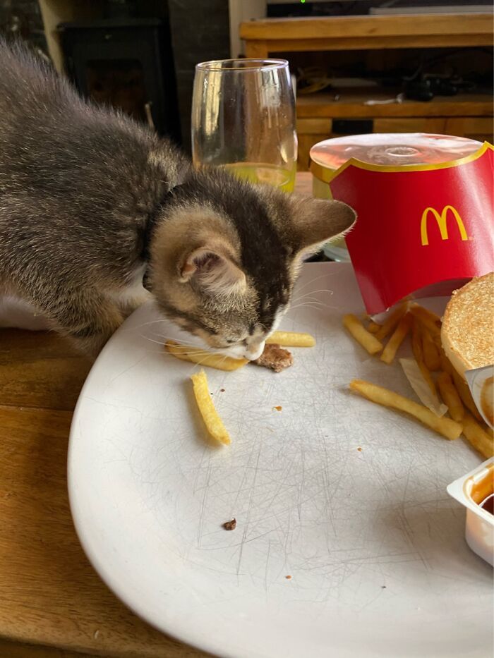
[[[478,413],[468,384],[454,370],[442,349],[441,319],[438,315],[418,304],[404,303],[391,312],[382,324],[370,321],[364,326],[352,314],[343,317],[343,324],[369,354],[380,353],[380,360],[387,365],[394,361],[399,346],[411,334],[411,349],[418,368],[431,393],[442,398],[451,418],[438,416],[426,406],[361,379],[350,382],[352,390],[372,402],[411,415],[447,439],[457,439],[463,434],[485,458],[493,456],[493,432]],[[382,341],[387,336],[390,338],[383,345]]]

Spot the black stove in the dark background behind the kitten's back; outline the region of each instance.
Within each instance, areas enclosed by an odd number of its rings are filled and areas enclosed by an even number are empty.
[[[83,95],[180,142],[173,52],[164,20],[123,16],[62,23],[58,29],[66,71]]]

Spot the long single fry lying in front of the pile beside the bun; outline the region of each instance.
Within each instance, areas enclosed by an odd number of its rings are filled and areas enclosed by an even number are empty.
[[[436,416],[427,407],[394,393],[394,391],[384,389],[382,386],[364,382],[363,379],[353,379],[350,382],[350,388],[371,402],[408,413],[413,418],[416,418],[416,420],[422,422],[423,425],[442,434],[443,437],[450,439],[450,441],[457,439],[462,434],[462,425],[459,425],[458,422],[450,418]]]

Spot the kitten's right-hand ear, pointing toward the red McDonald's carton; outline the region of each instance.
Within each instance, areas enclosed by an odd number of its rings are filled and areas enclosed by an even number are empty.
[[[348,233],[356,212],[342,201],[291,197],[296,250],[303,255],[315,252],[330,238]]]

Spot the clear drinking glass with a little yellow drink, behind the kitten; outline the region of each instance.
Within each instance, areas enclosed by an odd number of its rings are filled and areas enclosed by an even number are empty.
[[[251,183],[292,192],[295,101],[285,59],[226,59],[195,67],[195,166],[223,166]]]

